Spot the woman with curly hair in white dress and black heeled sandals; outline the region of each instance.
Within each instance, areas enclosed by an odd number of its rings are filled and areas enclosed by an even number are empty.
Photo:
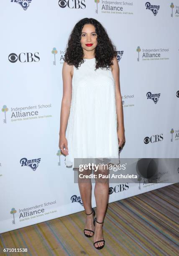
[[[84,18],[74,26],[64,56],[62,77],[59,148],[66,156],[66,167],[74,167],[76,158],[118,159],[119,147],[125,143],[119,65],[115,46],[97,20]],[[97,171],[98,174],[107,172],[103,167]],[[83,172],[87,173],[91,170]],[[84,235],[94,235],[95,248],[102,249],[109,180],[99,182],[97,178],[95,181],[95,219],[91,179],[83,179],[78,184],[87,215]]]

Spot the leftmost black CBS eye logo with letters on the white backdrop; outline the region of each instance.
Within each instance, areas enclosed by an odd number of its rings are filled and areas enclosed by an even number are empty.
[[[32,54],[31,52],[21,52],[19,55],[15,54],[15,53],[11,53],[8,56],[8,60],[11,63],[15,63],[17,61],[20,62],[38,62],[40,60],[40,57],[38,56],[39,53],[35,52],[34,54]]]

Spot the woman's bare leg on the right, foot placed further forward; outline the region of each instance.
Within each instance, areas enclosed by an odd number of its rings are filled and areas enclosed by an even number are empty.
[[[100,170],[95,172],[97,177],[99,174],[108,175],[108,165],[101,166]],[[97,212],[97,221],[103,222],[105,218],[105,212],[107,209],[107,203],[109,200],[109,179],[108,178],[97,178],[95,179],[95,200],[96,200],[96,212]],[[103,224],[99,224],[95,221],[95,235],[94,243],[96,241],[103,240]],[[96,243],[95,247],[103,246],[104,242]]]

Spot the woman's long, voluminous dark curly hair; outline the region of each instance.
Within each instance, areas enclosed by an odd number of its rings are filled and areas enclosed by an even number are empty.
[[[66,53],[64,54],[64,61],[69,65],[74,65],[77,69],[84,63],[84,53],[81,46],[82,28],[85,24],[92,24],[95,26],[97,33],[97,46],[95,48],[96,69],[99,67],[109,69],[113,65],[112,59],[116,56],[116,47],[113,46],[112,41],[107,35],[106,29],[102,24],[93,18],[84,18],[79,20],[74,26],[66,45]],[[95,69],[95,70],[96,70]]]

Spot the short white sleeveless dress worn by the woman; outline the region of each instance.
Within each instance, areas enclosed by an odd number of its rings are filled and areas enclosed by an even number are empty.
[[[74,158],[105,158],[107,163],[119,163],[115,80],[111,69],[95,71],[95,65],[93,58],[84,59],[78,69],[74,67],[66,167],[76,167]]]

